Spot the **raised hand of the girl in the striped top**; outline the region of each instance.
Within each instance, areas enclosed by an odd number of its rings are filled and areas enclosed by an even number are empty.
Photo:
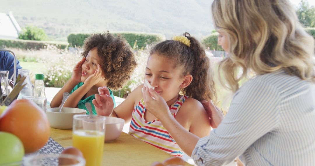
[[[113,112],[114,102],[109,90],[106,86],[103,86],[99,87],[98,91],[99,94],[95,94],[95,99],[92,100],[96,113],[101,116],[110,116]]]

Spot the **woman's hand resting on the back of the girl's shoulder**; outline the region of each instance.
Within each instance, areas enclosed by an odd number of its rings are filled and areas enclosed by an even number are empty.
[[[209,102],[203,100],[201,101],[201,103],[203,105],[203,108],[208,113],[211,127],[217,128],[224,118],[223,112],[213,104],[212,100],[210,100]]]

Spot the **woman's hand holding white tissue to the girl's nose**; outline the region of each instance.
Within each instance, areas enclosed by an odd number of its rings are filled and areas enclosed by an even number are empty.
[[[166,116],[172,116],[169,111],[169,106],[166,104],[163,97],[157,94],[152,88],[143,87],[144,107],[152,113],[157,119],[161,120]],[[154,97],[155,100],[152,98]]]

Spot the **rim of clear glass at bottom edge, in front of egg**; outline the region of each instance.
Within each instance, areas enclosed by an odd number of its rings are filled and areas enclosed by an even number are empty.
[[[72,154],[35,154],[24,158],[24,166],[85,166],[84,158]]]

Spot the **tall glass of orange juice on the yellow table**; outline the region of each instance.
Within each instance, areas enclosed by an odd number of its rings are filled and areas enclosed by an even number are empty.
[[[104,116],[73,116],[72,144],[83,153],[86,165],[102,165],[105,119]]]

